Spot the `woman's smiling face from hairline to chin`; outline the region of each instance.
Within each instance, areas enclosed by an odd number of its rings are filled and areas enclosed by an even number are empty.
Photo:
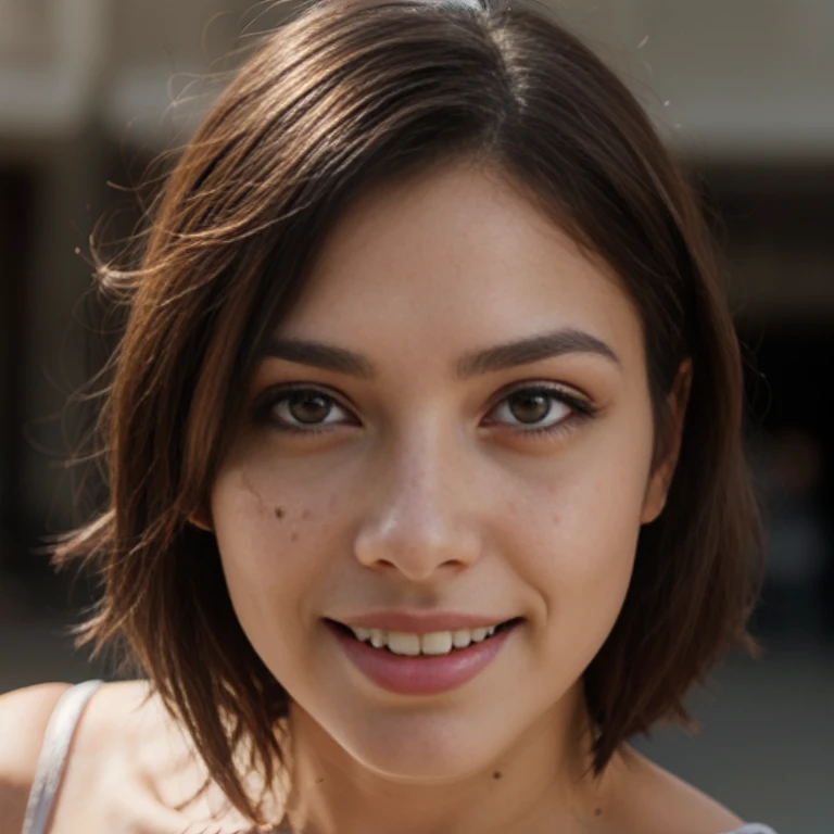
[[[567,734],[662,504],[617,280],[498,173],[448,167],[349,212],[268,354],[212,516],[293,709],[401,780]]]

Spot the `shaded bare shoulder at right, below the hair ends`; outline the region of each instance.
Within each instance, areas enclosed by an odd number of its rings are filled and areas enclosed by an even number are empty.
[[[744,820],[694,785],[630,750],[629,787],[618,801],[627,831],[641,834],[726,834]]]

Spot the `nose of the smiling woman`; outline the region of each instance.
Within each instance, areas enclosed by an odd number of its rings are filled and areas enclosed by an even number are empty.
[[[390,456],[354,544],[362,565],[421,583],[471,566],[482,546],[465,455],[426,434]]]

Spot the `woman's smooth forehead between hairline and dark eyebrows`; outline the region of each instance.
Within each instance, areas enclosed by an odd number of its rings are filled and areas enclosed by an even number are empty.
[[[458,164],[387,184],[340,218],[281,337],[447,355],[577,328],[642,362],[620,281],[521,187]]]

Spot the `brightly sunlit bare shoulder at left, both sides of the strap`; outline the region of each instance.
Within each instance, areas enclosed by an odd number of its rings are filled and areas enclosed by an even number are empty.
[[[5,742],[7,724],[15,731],[12,743],[0,747],[26,745],[25,754],[0,750],[0,834],[21,832],[43,733],[68,687],[48,684],[0,698],[0,737]],[[216,785],[195,796],[206,775],[187,734],[148,681],[105,683],[76,724],[50,834],[112,831],[114,825],[119,831],[177,834],[193,823],[211,823],[216,832],[241,831],[245,820]]]

